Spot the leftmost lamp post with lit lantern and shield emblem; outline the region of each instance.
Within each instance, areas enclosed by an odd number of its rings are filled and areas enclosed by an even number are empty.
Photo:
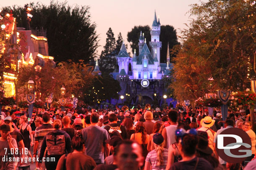
[[[34,87],[35,87],[34,81],[32,80],[32,78],[29,78],[29,81],[28,81],[29,94],[26,95],[26,99],[29,103],[29,118],[32,117],[33,105],[36,100],[36,96],[34,94]]]

